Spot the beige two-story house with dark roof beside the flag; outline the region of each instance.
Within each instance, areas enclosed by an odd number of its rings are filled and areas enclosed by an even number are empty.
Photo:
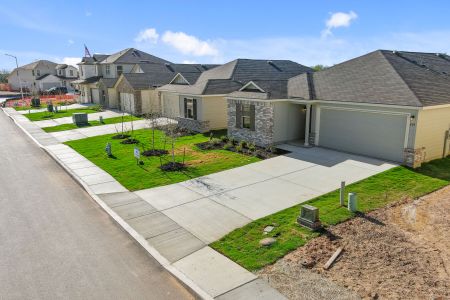
[[[121,74],[130,73],[136,64],[170,63],[143,51],[127,48],[111,55],[94,54],[84,57],[79,64],[81,80],[79,102],[98,103],[107,107],[119,107],[119,96],[114,84]],[[111,98],[111,99],[110,99]]]

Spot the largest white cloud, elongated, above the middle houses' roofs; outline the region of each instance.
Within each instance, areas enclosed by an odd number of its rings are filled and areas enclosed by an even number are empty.
[[[166,31],[162,41],[183,54],[194,56],[217,56],[219,50],[209,41],[202,41],[184,32]]]

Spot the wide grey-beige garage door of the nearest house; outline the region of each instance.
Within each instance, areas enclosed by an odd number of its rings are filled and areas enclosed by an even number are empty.
[[[406,115],[323,108],[319,145],[402,162],[406,120]]]

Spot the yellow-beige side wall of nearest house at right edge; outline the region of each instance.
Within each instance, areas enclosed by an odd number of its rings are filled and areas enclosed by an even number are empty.
[[[450,129],[450,107],[421,110],[416,127],[415,148],[425,147],[425,161],[442,158],[444,146],[445,154],[450,154],[450,142],[445,140]]]

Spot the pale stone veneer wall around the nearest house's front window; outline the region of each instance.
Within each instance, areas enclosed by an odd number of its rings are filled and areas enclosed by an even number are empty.
[[[236,103],[255,105],[255,130],[236,128]],[[237,139],[268,146],[273,143],[274,107],[270,102],[228,100],[228,135]]]

